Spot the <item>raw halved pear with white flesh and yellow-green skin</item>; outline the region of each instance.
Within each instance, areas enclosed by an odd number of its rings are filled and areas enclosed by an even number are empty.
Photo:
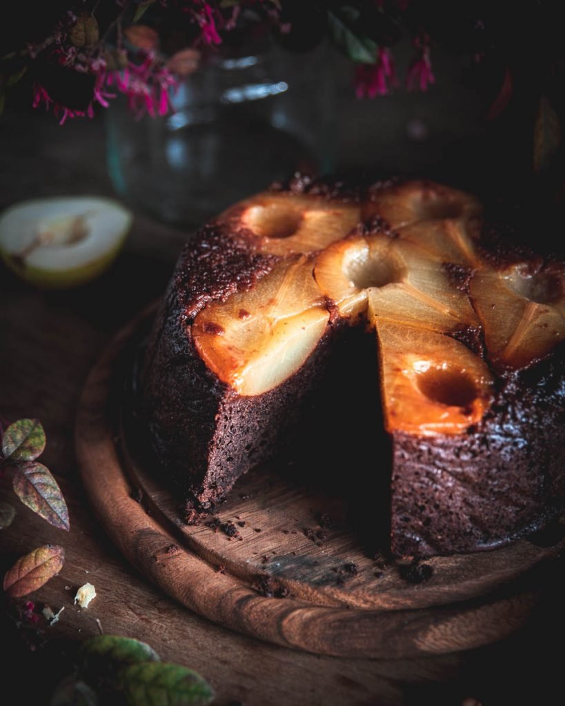
[[[0,217],[0,254],[16,275],[34,285],[75,287],[109,267],[131,222],[131,212],[109,198],[23,201]]]

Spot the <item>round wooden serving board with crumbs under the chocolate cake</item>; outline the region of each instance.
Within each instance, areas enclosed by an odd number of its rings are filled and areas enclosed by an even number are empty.
[[[127,421],[124,381],[152,314],[133,320],[97,361],[76,424],[95,512],[143,575],[227,628],[342,657],[464,650],[523,624],[551,580],[562,532],[415,568],[371,556],[355,523],[344,519],[343,498],[302,486],[274,466],[240,479],[209,523],[185,525]]]

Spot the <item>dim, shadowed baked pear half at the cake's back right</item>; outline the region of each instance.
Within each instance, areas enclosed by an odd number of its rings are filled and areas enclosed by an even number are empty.
[[[463,220],[465,227],[480,221],[480,201],[464,191],[434,181],[407,181],[378,189],[364,209],[364,217],[381,216],[394,229],[427,220]]]

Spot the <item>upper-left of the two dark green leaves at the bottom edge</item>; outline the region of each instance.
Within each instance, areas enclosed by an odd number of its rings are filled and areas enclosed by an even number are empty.
[[[141,662],[160,662],[153,647],[119,635],[96,635],[86,640],[80,658],[81,674],[87,681],[114,688],[119,671],[124,667]]]

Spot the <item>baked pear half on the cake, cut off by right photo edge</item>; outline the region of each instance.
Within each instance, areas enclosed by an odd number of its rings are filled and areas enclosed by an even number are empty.
[[[478,271],[470,296],[480,316],[494,366],[522,369],[544,358],[565,338],[565,273],[518,263]]]

